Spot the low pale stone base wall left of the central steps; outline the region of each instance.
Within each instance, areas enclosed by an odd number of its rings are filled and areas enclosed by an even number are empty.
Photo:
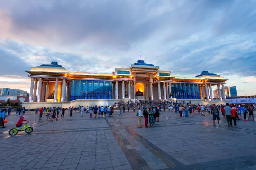
[[[106,106],[106,105],[113,105],[114,103],[119,102],[119,100],[115,99],[109,99],[109,100],[104,100],[104,99],[94,99],[94,100],[73,100],[70,102],[23,102],[22,106],[25,108],[41,108],[41,107],[76,107],[76,106]]]

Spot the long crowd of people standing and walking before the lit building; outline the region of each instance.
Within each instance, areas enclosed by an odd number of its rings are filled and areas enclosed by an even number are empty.
[[[114,108],[119,108],[119,116],[122,116],[124,112],[129,112],[130,108],[133,109],[132,112],[135,113],[136,108],[138,108],[138,126],[141,126],[141,120],[144,117],[144,127],[149,126],[154,127],[155,122],[159,122],[159,117],[161,110],[168,112],[174,111],[175,115],[178,114],[181,118],[189,117],[194,115],[208,116],[212,115],[213,126],[216,126],[216,119],[219,125],[220,113],[222,117],[226,119],[228,126],[237,125],[237,120],[243,119],[244,121],[249,121],[251,118],[254,121],[253,112],[255,110],[254,104],[229,104],[226,105],[193,105],[191,102],[153,102],[153,101],[144,101],[144,102],[119,102],[115,103],[112,106],[77,106],[77,107],[53,107],[53,108],[36,108],[33,109],[35,114],[39,113],[39,120],[42,120],[43,115],[45,115],[47,120],[58,121],[59,118],[64,118],[65,113],[68,112],[69,116],[72,117],[73,113],[80,113],[81,117],[84,116],[84,113],[89,113],[90,118],[100,118],[102,117],[112,117]],[[0,124],[4,128],[4,120],[6,116],[10,116],[12,108],[2,108],[0,110]],[[25,115],[25,111],[30,113],[31,109],[25,109],[24,107],[16,108],[15,115]],[[61,113],[61,114],[60,114]],[[249,114],[248,119],[246,119],[247,114]]]

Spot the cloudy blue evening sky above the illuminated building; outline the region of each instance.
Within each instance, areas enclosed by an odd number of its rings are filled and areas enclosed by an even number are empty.
[[[256,0],[0,1],[0,88],[30,67],[111,73],[139,58],[172,76],[216,73],[256,95]]]

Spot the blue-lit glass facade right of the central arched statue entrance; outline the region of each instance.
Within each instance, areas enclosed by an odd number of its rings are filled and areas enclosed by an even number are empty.
[[[172,83],[172,97],[177,99],[200,99],[199,85],[194,83]]]

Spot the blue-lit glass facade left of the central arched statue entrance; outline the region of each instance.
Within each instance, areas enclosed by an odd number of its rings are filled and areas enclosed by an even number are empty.
[[[112,82],[72,80],[71,100],[75,99],[112,99]]]

